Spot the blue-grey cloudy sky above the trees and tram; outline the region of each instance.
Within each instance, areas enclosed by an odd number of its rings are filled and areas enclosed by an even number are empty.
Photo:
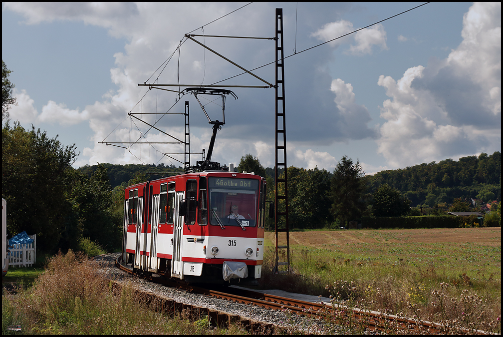
[[[282,8],[288,166],[332,172],[347,155],[375,174],[500,152],[501,3],[429,3],[309,49],[422,4],[3,3],[2,59],[18,102],[10,123],[75,144],[74,167],[178,167],[183,155],[163,153],[183,145],[158,142],[184,138],[188,101],[194,164],[212,132],[195,97],[138,83],[265,85],[190,32],[274,84],[273,40],[207,35],[274,37]],[[237,165],[250,153],[274,167],[274,88],[227,89],[237,100],[226,99],[211,159]],[[221,120],[218,96],[198,98]]]

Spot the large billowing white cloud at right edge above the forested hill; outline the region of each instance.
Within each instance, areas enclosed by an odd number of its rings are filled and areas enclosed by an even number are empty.
[[[381,108],[378,152],[391,166],[500,150],[500,13],[500,3],[474,4],[447,59],[411,67],[398,81],[379,77],[391,99]]]

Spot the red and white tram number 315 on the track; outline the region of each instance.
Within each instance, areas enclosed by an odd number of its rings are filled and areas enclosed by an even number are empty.
[[[266,180],[230,167],[127,187],[122,264],[187,282],[257,283]]]

